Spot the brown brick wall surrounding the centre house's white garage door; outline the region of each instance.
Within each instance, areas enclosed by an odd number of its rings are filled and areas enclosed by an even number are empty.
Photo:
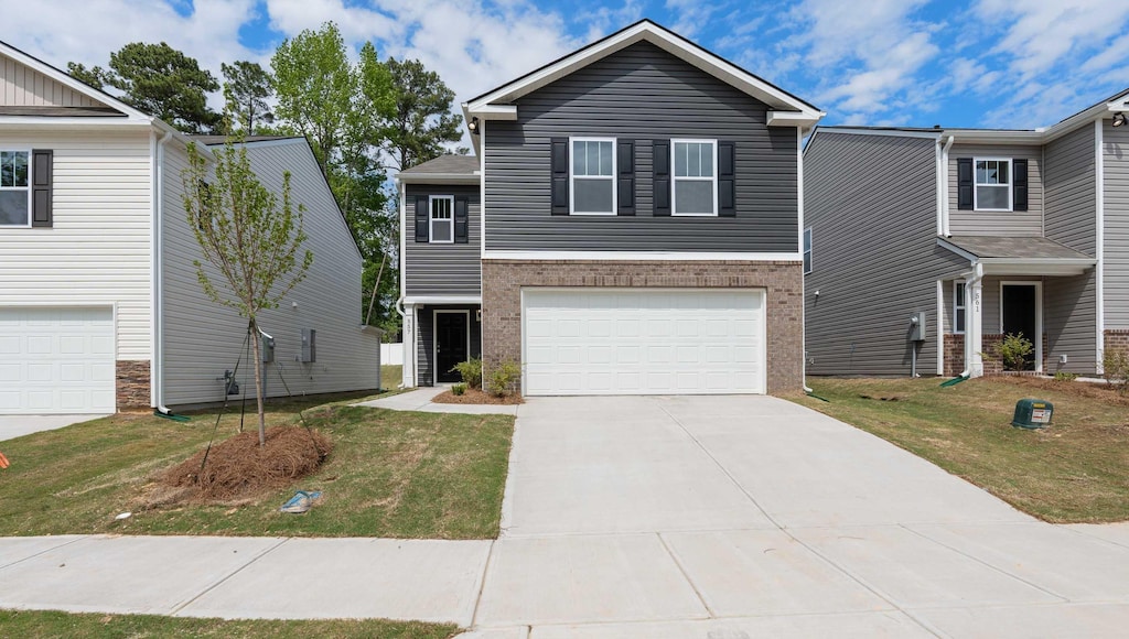
[[[802,262],[483,260],[482,359],[522,360],[523,287],[764,288],[768,392],[804,386]]]

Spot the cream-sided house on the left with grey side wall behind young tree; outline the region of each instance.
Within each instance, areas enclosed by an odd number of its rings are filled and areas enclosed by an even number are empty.
[[[181,200],[191,141],[0,43],[0,414],[224,400],[246,321],[196,280]],[[315,255],[306,281],[261,317],[275,340],[268,394],[286,394],[283,378],[295,393],[377,387],[361,257],[313,152],[300,138],[245,147],[270,187],[292,173]],[[304,329],[316,331],[314,361],[299,361]],[[251,370],[244,357],[240,385]]]

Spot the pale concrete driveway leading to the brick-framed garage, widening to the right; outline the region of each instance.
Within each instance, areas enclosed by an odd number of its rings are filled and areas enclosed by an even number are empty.
[[[772,397],[533,399],[502,526],[474,614],[483,637],[1129,627],[1129,526],[1036,522]]]

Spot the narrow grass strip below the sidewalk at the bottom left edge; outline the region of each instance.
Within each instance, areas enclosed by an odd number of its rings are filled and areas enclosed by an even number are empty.
[[[306,637],[382,639],[447,639],[457,628],[452,624],[386,620],[327,621],[226,621],[182,619],[149,614],[71,614],[52,611],[0,610],[0,628],[6,637],[69,637],[111,639],[148,637]]]

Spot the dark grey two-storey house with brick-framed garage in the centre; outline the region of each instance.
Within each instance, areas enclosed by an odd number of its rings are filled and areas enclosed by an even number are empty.
[[[823,116],[648,20],[463,105],[402,172],[405,384],[526,395],[803,387],[800,140]]]

